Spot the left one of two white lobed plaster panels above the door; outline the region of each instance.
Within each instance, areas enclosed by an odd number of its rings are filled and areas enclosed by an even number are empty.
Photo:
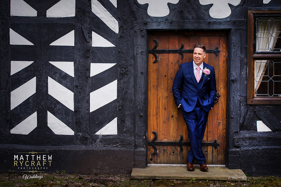
[[[152,17],[163,17],[170,13],[168,3],[176,4],[179,0],[137,0],[140,4],[148,3],[147,14]]]

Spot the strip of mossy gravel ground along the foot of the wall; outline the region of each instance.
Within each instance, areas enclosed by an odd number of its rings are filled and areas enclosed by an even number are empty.
[[[101,174],[9,174],[0,173],[0,187],[14,186],[124,186],[124,187],[281,187],[280,177],[255,177],[248,181],[197,181],[197,180],[130,180],[130,175],[101,175]]]

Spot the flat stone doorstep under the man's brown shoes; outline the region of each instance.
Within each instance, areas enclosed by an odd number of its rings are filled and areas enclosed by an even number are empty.
[[[131,179],[180,179],[180,180],[222,180],[247,181],[241,169],[228,169],[223,165],[207,165],[208,171],[200,171],[199,165],[194,165],[195,171],[187,171],[186,165],[148,165],[147,168],[133,168]]]

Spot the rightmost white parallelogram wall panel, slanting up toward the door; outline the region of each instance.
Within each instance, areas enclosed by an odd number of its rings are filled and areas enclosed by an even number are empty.
[[[90,112],[117,98],[117,80],[90,93]]]

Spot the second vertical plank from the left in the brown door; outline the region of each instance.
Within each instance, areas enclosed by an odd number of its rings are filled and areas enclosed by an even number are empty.
[[[159,49],[168,49],[169,36],[159,36]],[[158,141],[168,140],[168,60],[169,54],[158,54]],[[158,160],[167,163],[167,147],[159,146]]]

